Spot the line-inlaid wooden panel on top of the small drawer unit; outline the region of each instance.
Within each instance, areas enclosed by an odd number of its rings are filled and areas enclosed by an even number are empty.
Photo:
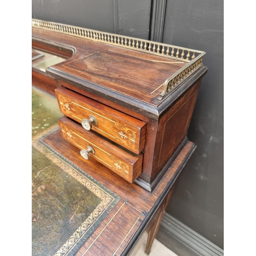
[[[172,65],[171,65],[172,64]],[[105,49],[63,64],[88,81],[127,95],[151,95],[184,62],[123,49]]]

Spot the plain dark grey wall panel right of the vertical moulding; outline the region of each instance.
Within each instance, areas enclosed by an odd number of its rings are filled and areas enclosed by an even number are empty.
[[[163,42],[205,51],[208,67],[188,130],[197,149],[167,213],[223,248],[223,1],[167,1]]]

